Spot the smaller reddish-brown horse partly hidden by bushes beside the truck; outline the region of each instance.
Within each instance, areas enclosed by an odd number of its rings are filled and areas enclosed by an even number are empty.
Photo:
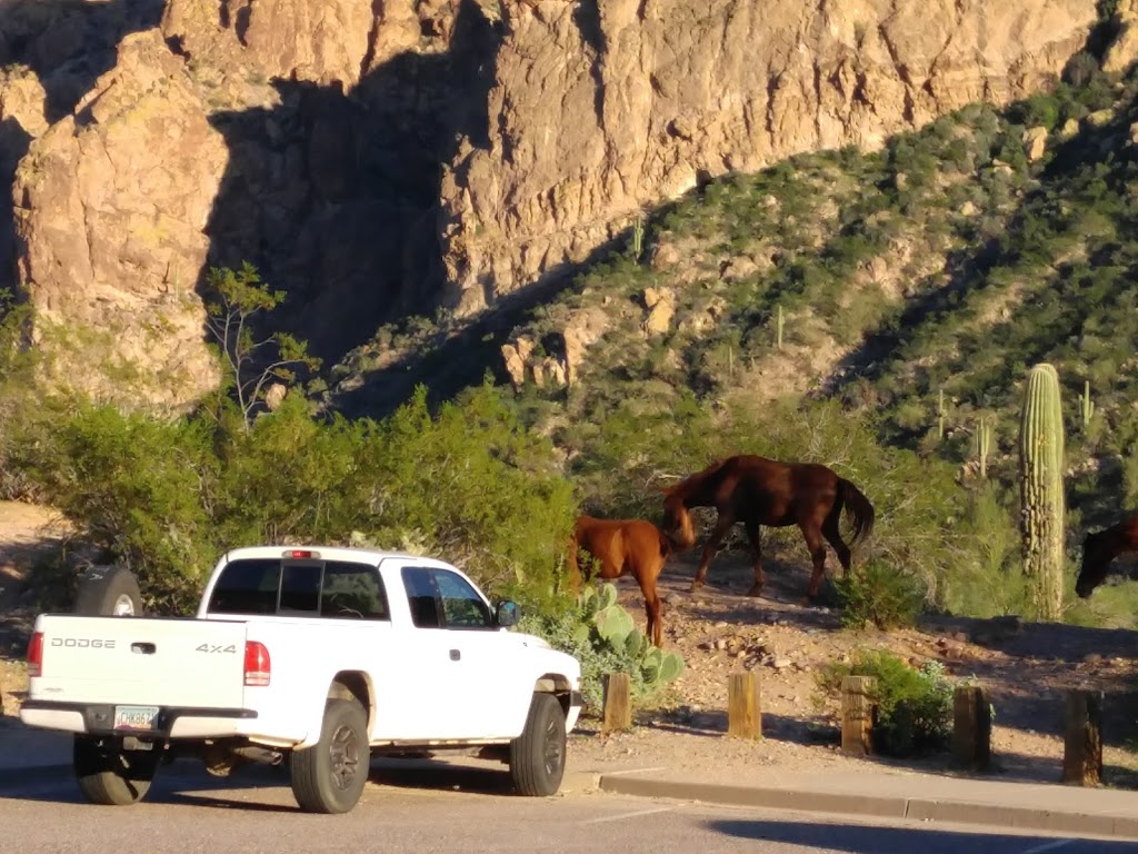
[[[629,574],[644,594],[648,632],[652,643],[662,646],[662,605],[655,592],[655,580],[671,553],[671,541],[651,522],[644,519],[597,519],[580,516],[569,540],[568,564],[574,586],[580,585],[577,550],[584,549],[601,564],[600,577],[619,578]]]

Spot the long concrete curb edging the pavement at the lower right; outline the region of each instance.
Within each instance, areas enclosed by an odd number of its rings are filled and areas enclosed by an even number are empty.
[[[976,804],[948,798],[852,795],[785,788],[766,789],[752,786],[653,780],[616,774],[601,774],[599,788],[602,791],[618,795],[702,800],[732,806],[760,806],[770,810],[871,815],[916,821],[947,821],[964,824],[993,824],[1019,830],[1050,830],[1061,834],[1138,839],[1138,818]]]

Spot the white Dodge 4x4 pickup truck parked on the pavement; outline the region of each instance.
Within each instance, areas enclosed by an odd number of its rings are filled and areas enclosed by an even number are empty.
[[[234,549],[192,618],[40,615],[19,716],[75,733],[98,804],[140,800],[180,755],[221,775],[288,759],[308,812],[349,811],[384,753],[477,753],[506,763],[520,794],[552,795],[580,665],[509,631],[517,618],[442,560]]]

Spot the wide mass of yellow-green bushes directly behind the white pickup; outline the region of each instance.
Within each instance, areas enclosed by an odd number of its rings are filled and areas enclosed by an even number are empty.
[[[487,593],[556,607],[575,506],[549,442],[481,389],[432,416],[426,391],[385,421],[314,420],[304,399],[246,421],[236,404],[173,420],[60,408],[17,458],[148,605],[188,611],[225,549],[418,543]]]

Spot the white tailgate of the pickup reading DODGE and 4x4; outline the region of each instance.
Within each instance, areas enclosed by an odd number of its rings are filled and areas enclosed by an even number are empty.
[[[38,699],[240,708],[246,624],[193,618],[43,615]]]

